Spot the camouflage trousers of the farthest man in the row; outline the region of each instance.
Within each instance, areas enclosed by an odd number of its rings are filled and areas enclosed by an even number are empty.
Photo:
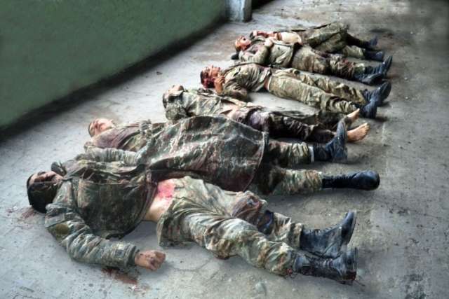
[[[339,22],[299,33],[304,44],[326,53],[340,53],[363,59],[363,41],[348,34],[348,27]]]

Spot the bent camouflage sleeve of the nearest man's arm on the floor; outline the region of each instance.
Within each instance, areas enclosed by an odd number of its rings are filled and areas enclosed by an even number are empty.
[[[74,260],[122,268],[135,265],[139,251],[135,245],[93,235],[76,211],[71,182],[62,183],[53,204],[47,205],[45,226]]]

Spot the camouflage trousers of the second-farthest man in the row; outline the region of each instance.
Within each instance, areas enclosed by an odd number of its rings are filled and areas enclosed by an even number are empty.
[[[354,74],[362,74],[365,71],[364,64],[349,62],[340,55],[326,55],[324,57],[310,46],[302,46],[295,52],[290,67],[300,71],[310,71],[311,73],[347,79],[354,78]]]

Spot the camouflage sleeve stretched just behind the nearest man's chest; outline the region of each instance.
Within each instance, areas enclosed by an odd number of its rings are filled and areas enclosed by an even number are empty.
[[[86,153],[76,156],[76,160],[93,160],[98,162],[121,161],[127,166],[134,166],[138,164],[138,157],[139,154],[133,151],[89,146],[86,148]]]

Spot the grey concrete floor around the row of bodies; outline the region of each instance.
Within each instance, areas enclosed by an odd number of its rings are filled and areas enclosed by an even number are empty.
[[[102,88],[88,101],[46,115],[0,144],[0,298],[449,298],[449,4],[447,1],[286,1],[255,11],[247,24],[227,24],[125,83]],[[27,207],[25,180],[83,150],[96,116],[119,122],[163,121],[161,95],[175,83],[199,86],[206,64],[227,66],[232,41],[252,29],[342,20],[363,36],[377,34],[394,63],[393,89],[368,138],[349,146],[345,165],[327,172],[375,169],[374,192],[344,190],[269,198],[270,206],[311,226],[358,211],[352,246],[359,248],[358,284],[328,279],[284,279],[241,258],[217,260],[194,244],[166,249],[157,272],[104,270],[76,263]],[[251,95],[267,106],[300,104]],[[32,121],[32,120],[30,120]],[[2,138],[4,139],[4,138]],[[142,223],[126,241],[159,249],[154,225]]]

